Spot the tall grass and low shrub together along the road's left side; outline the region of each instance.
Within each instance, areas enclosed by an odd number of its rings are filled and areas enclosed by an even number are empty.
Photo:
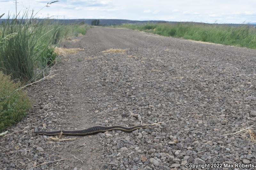
[[[0,131],[20,121],[31,107],[21,86],[47,74],[61,40],[84,35],[88,28],[29,18],[27,13],[18,19],[7,16],[0,25]]]

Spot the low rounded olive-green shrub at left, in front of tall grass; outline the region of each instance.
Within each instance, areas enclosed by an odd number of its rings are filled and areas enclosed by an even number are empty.
[[[20,121],[31,107],[27,94],[19,89],[20,84],[10,78],[0,71],[0,131]]]

